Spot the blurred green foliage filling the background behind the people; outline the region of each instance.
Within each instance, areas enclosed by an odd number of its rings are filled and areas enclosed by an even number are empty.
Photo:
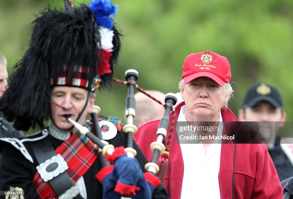
[[[90,0],[73,2],[78,6]],[[30,22],[48,3],[63,6],[62,0],[0,1],[0,52],[8,60],[8,73],[28,47]],[[115,22],[124,35],[115,78],[124,80],[127,69],[136,69],[143,89],[176,93],[185,57],[212,50],[230,62],[235,93],[229,108],[235,115],[248,87],[265,81],[279,89],[287,121],[293,121],[292,0],[113,0],[113,4],[119,6]],[[103,114],[125,120],[126,94],[126,86],[113,83],[111,91],[97,91],[96,105]]]

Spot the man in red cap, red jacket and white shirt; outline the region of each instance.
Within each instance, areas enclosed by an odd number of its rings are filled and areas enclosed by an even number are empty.
[[[166,169],[165,175],[161,167],[159,176],[163,176],[163,183],[172,199],[191,196],[213,199],[282,198],[280,181],[265,144],[235,144],[233,136],[232,142],[221,137],[227,131],[227,126],[221,125],[223,121],[234,122],[229,127],[239,124],[227,107],[233,92],[230,80],[230,64],[226,57],[207,50],[185,58],[179,82],[184,101],[171,113],[170,120],[177,123],[170,122],[163,141],[166,147],[164,154],[169,154],[169,165],[166,166],[166,159],[161,161],[163,155],[159,161],[159,165]],[[209,130],[193,129],[188,136],[179,134],[194,122]],[[150,121],[140,126],[134,135],[148,160],[152,156],[149,145],[156,140],[158,125],[159,120]],[[229,130],[231,132],[231,128]],[[193,144],[186,144],[190,139]]]

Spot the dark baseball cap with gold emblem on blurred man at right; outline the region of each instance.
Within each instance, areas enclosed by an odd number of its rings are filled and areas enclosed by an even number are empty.
[[[279,91],[274,86],[263,82],[253,84],[248,89],[243,98],[242,107],[248,106],[253,108],[260,101],[267,101],[274,108],[283,107],[283,101]]]

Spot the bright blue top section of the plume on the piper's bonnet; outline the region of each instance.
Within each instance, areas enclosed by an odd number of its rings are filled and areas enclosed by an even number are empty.
[[[109,30],[112,29],[113,25],[113,16],[118,11],[117,5],[112,5],[110,0],[93,0],[88,7],[93,11],[96,16],[98,26],[104,26]]]

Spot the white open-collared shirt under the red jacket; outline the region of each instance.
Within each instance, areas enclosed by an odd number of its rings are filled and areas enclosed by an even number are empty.
[[[219,122],[223,118],[220,113]],[[187,122],[185,105],[181,107],[178,122]],[[222,126],[217,136],[222,135]],[[219,169],[221,144],[211,144],[205,154],[203,144],[180,144],[184,162],[184,174],[181,189],[181,199],[211,198],[220,196]]]

